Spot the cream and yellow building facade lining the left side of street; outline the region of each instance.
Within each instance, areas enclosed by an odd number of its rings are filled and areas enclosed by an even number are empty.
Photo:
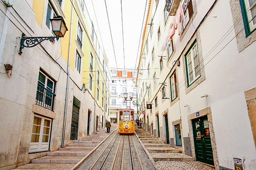
[[[0,169],[8,170],[105,127],[110,71],[93,2],[1,0],[0,9]],[[22,33],[54,37],[49,19],[58,15],[65,36],[20,55]]]

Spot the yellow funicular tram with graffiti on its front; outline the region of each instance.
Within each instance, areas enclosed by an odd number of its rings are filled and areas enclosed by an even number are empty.
[[[127,106],[118,112],[119,134],[134,134],[134,109],[131,109],[131,100],[132,95],[130,100],[127,100],[127,97],[125,97],[125,101],[130,101],[130,107],[128,108]]]

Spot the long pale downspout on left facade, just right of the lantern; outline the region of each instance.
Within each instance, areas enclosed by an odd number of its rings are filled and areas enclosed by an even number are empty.
[[[73,0],[72,3],[74,3],[74,0]],[[69,79],[70,79],[69,68],[70,68],[72,29],[73,29],[73,11],[74,11],[74,8],[72,7],[72,10],[71,10],[71,23],[70,23],[70,44],[69,44],[68,63],[67,63],[67,89],[66,89],[66,99],[65,99],[66,101],[65,101],[65,110],[64,110],[64,123],[63,123],[63,133],[62,133],[61,147],[64,147],[65,129],[66,129],[66,118],[67,118],[67,96],[68,96]]]

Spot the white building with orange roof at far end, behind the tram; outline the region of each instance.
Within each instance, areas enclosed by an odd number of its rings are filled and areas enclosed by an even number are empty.
[[[137,70],[124,68],[111,69],[111,123],[119,122],[118,111],[122,108],[134,109],[134,117],[137,117]],[[125,99],[126,98],[126,99]]]

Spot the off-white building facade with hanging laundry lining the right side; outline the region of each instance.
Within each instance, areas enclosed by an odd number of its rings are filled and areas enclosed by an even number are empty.
[[[149,1],[137,76],[143,128],[216,170],[234,170],[234,159],[256,167],[255,8]]]

